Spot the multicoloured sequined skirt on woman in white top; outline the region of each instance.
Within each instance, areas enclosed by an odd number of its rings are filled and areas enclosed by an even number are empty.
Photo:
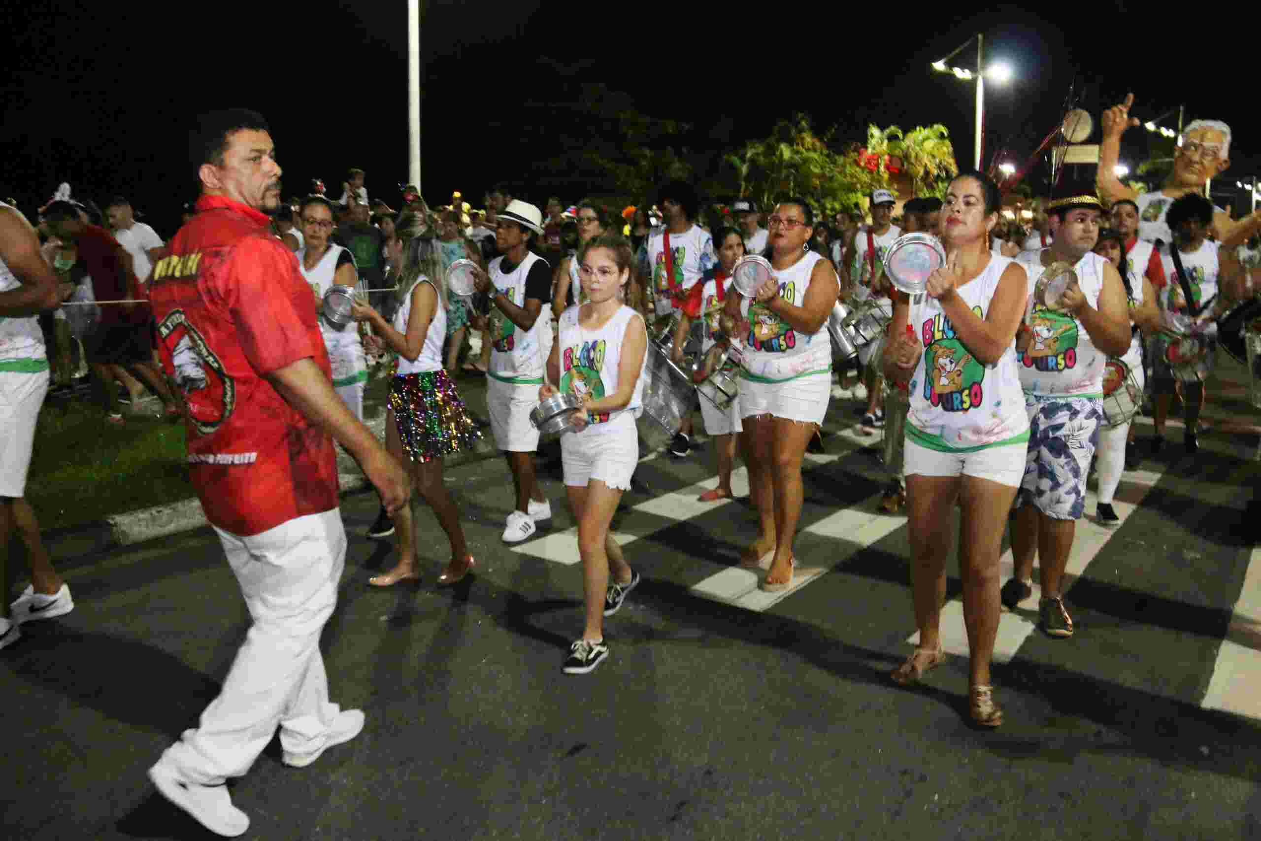
[[[419,464],[470,450],[482,438],[445,371],[392,377],[390,409],[395,412],[404,453]]]

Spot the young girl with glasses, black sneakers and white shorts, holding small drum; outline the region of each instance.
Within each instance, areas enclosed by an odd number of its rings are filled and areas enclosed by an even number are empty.
[[[639,574],[625,562],[609,531],[639,461],[634,416],[643,393],[648,333],[643,316],[620,300],[633,260],[630,243],[617,235],[595,237],[581,247],[579,276],[586,303],[561,314],[547,357],[549,382],[559,387],[538,390],[540,400],[557,391],[583,398],[572,414],[572,431],[560,439],[586,605],[583,635],[570,646],[562,667],[566,675],[585,675],[609,656],[604,617],[617,613],[639,584]]]

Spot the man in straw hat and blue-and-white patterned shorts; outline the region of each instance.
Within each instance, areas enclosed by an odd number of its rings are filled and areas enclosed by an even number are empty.
[[[1107,356],[1130,347],[1130,318],[1121,275],[1092,252],[1102,218],[1100,200],[1093,195],[1057,199],[1049,212],[1059,217],[1054,243],[1021,257],[1030,294],[1057,262],[1073,266],[1079,282],[1071,284],[1061,301],[1048,303],[1054,310],[1034,295],[1035,308],[1016,333],[1029,454],[1011,525],[1015,576],[1002,586],[1001,598],[1014,608],[1031,595],[1034,559],[1039,548],[1050,548],[1050,557],[1038,557],[1040,625],[1050,637],[1071,637],[1073,622],[1064,608],[1062,580],[1103,417],[1103,364]]]

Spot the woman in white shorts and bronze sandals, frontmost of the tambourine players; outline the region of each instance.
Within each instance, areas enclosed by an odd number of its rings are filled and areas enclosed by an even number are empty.
[[[908,383],[910,393],[904,473],[919,628],[918,646],[890,677],[914,683],[944,661],[939,624],[957,504],[968,709],[972,721],[990,728],[1002,722],[990,682],[999,555],[1029,440],[1015,356],[1028,280],[1019,264],[990,251],[1000,200],[997,185],[981,173],[951,182],[942,207],[947,265],[928,276],[922,304],[903,296],[894,303],[895,338],[884,353],[885,374]]]

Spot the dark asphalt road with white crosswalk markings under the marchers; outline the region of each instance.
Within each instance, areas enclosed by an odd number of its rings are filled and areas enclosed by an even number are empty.
[[[1251,619],[1232,610],[1256,542],[1255,431],[1206,434],[1195,459],[1174,436],[1127,474],[1119,528],[1082,521],[1077,634],[1031,630],[1035,604],[1005,614],[1006,722],[977,731],[966,658],[915,688],[886,678],[914,630],[907,528],[874,511],[876,440],[854,432],[852,405],[835,403],[828,454],[806,470],[803,584],[779,599],[731,566],[755,528],[747,502],[689,502],[712,484],[710,449],[641,464],[614,528],[644,581],[584,677],[560,672],[581,572],[559,461],[541,465],[552,521],[514,548],[499,540],[507,467],[448,472],[478,559],[450,590],[434,585],[446,545],[424,508],[424,580],[368,588],[393,545],[363,537],[375,497],[348,497],[323,644],[334,700],[367,728],[304,769],[274,741],[232,783],[247,837],[1261,837],[1261,721],[1204,709],[1223,639],[1261,649],[1232,634]],[[195,724],[248,625],[217,540],[63,547],[58,564],[76,610],[0,656],[5,836],[214,837],[145,769]],[[1237,677],[1236,693],[1261,686],[1261,670]]]

